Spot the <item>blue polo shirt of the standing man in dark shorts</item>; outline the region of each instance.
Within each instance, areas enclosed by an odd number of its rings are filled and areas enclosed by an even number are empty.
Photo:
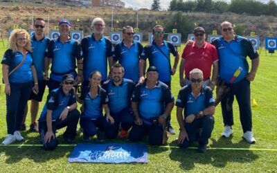
[[[46,56],[46,48],[50,42],[48,37],[37,40],[35,34],[31,37],[31,45],[33,51],[33,62],[37,71],[37,80],[43,80],[44,73],[44,57]]]

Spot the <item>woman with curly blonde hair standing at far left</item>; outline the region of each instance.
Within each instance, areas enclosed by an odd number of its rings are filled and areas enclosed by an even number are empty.
[[[33,64],[30,35],[24,29],[13,30],[9,39],[10,48],[3,56],[2,73],[5,83],[8,135],[2,144],[21,141],[19,129],[30,92],[37,93],[37,72]],[[33,86],[35,84],[35,86]]]

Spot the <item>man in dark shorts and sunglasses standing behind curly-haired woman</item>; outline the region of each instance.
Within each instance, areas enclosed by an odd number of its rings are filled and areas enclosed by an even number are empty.
[[[37,80],[39,86],[39,92],[37,94],[31,93],[29,100],[30,102],[30,131],[38,131],[37,123],[35,122],[37,118],[37,112],[39,111],[39,102],[42,101],[44,90],[46,87],[46,76],[48,76],[48,70],[44,68],[44,63],[48,66],[49,60],[45,58],[45,51],[48,47],[50,39],[44,35],[44,27],[45,21],[42,18],[35,19],[35,34],[31,36],[31,44],[33,51],[33,62],[35,64],[35,69],[37,70]],[[44,75],[44,73],[46,75]],[[21,130],[26,129],[25,120],[28,112],[28,106],[26,107],[26,111],[24,114],[24,118],[22,121]]]

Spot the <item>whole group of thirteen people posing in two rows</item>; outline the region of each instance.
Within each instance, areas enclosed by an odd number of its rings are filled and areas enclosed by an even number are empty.
[[[154,39],[145,47],[133,39],[132,26],[123,27],[123,41],[113,46],[103,36],[105,21],[99,17],[91,23],[93,33],[80,43],[69,36],[71,24],[66,19],[59,22],[57,39],[48,39],[44,27],[44,19],[37,18],[34,35],[17,29],[10,36],[10,48],[1,62],[8,129],[2,144],[24,140],[20,130],[25,125],[27,102],[31,100],[30,129],[39,131],[45,149],[57,147],[55,132],[62,127],[66,127],[64,140],[74,143],[79,120],[83,140],[95,135],[100,141],[112,139],[119,132],[120,138],[128,137],[132,142],[148,134],[150,145],[162,145],[168,140],[168,133],[175,134],[170,125],[175,104],[180,147],[197,141],[199,151],[206,152],[215,122],[215,106],[220,101],[224,118],[222,136],[228,138],[233,133],[234,95],[240,108],[243,137],[249,143],[255,142],[250,82],[258,69],[258,53],[249,40],[233,33],[230,22],[220,25],[222,37],[212,44],[205,41],[204,28],[195,28],[194,41],[188,41],[181,55],[181,89],[176,103],[171,75],[176,73],[179,53],[175,46],[163,40],[163,26],[154,26]],[[173,66],[170,53],[175,57]],[[252,62],[250,72],[247,56]],[[81,84],[80,95],[78,84]],[[37,125],[39,102],[46,85],[49,93]],[[214,100],[216,85],[218,95]],[[81,113],[77,102],[82,104]]]

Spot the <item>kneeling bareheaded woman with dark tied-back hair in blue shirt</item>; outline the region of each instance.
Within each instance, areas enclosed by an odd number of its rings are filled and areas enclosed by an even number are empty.
[[[76,96],[76,100],[82,103],[84,108],[80,117],[83,140],[89,140],[89,137],[95,134],[97,134],[98,140],[104,140],[104,131],[108,123],[114,124],[114,118],[110,116],[107,105],[109,98],[106,91],[100,86],[101,80],[101,73],[93,71],[89,76],[89,92],[84,94],[82,101]],[[106,117],[102,115],[102,107],[105,109]]]

